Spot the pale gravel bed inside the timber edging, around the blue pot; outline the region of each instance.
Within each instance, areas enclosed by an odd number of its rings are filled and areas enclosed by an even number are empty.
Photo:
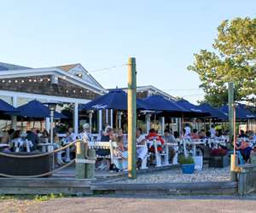
[[[122,180],[119,183],[166,183],[166,182],[204,182],[230,181],[230,168],[207,168],[195,170],[194,174],[183,174],[181,169],[166,170],[137,176],[137,180]]]

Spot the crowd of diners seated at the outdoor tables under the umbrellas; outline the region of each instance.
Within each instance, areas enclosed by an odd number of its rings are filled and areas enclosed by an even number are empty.
[[[55,131],[54,131],[55,132]],[[177,131],[165,130],[164,135],[159,135],[157,130],[151,129],[148,132],[148,135],[143,135],[141,129],[137,129],[137,169],[140,169],[144,158],[147,158],[148,153],[150,154],[149,164],[154,165],[154,153],[155,146],[153,141],[158,141],[157,151],[163,152],[163,147],[165,143],[174,144],[180,140],[203,140],[203,139],[214,139],[214,140],[224,140],[228,138],[228,131],[216,130],[214,125],[211,126],[209,130],[191,130],[189,124],[185,124],[183,129],[183,134],[179,135]],[[241,153],[242,158],[245,162],[256,163],[256,147],[253,147],[249,143],[249,140],[256,140],[256,136],[252,132],[245,133],[243,130],[240,131],[238,135],[240,140],[237,140],[236,150]],[[115,141],[117,147],[114,149],[114,155],[120,158],[120,163],[124,164],[127,162],[128,157],[128,144],[127,136],[123,133],[122,129],[113,130],[108,124],[105,124],[105,128],[102,130],[102,133],[97,136],[90,134],[90,124],[84,124],[83,130],[79,135],[73,133],[72,128],[68,128],[67,134],[63,138],[59,138],[56,133],[54,133],[54,145],[55,149],[63,147],[68,143],[75,140],[88,140],[88,141]],[[26,135],[21,135],[20,130],[10,129],[3,132],[3,137],[1,143],[9,144],[9,147],[3,147],[2,152],[15,152],[15,144],[21,144],[20,152],[26,152],[26,146],[21,143],[21,141],[29,142],[30,152],[38,152],[42,148],[42,144],[49,143],[49,133],[47,130],[39,131],[37,129],[32,129],[26,131]],[[218,146],[212,147],[212,154],[225,154],[227,153],[228,147]],[[176,154],[174,147],[170,146],[169,148],[169,163],[172,164],[172,160]],[[98,170],[116,170],[117,165],[110,164],[108,158],[104,156],[109,156],[110,151],[108,149],[97,149],[96,155],[99,157],[96,161],[96,169]],[[75,146],[67,147],[62,153],[56,154],[56,164],[65,164],[69,162],[72,158],[75,158]],[[124,168],[125,169],[125,168]]]

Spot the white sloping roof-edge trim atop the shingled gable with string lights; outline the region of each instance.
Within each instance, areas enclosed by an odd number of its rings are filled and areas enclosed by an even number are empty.
[[[22,78],[29,76],[44,76],[44,75],[59,75],[59,78],[69,81],[70,83],[77,84],[85,89],[93,89],[95,93],[102,95],[107,93],[106,89],[99,88],[98,86],[84,81],[84,79],[79,78],[69,72],[62,71],[60,68],[35,68],[35,69],[25,69],[25,70],[8,70],[0,72],[1,78]],[[64,78],[65,77],[65,78]],[[96,90],[95,90],[96,89]]]

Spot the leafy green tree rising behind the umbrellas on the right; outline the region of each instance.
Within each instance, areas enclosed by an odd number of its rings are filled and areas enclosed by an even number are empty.
[[[189,71],[199,74],[205,101],[219,107],[228,101],[227,82],[235,83],[236,101],[256,95],[256,19],[224,20],[218,26],[213,51],[201,49]]]

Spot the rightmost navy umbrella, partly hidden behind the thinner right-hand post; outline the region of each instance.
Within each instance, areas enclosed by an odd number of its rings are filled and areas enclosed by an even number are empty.
[[[219,108],[225,115],[229,115],[229,106],[225,105]],[[245,105],[238,104],[236,106],[236,120],[256,119],[256,115],[246,109]]]

